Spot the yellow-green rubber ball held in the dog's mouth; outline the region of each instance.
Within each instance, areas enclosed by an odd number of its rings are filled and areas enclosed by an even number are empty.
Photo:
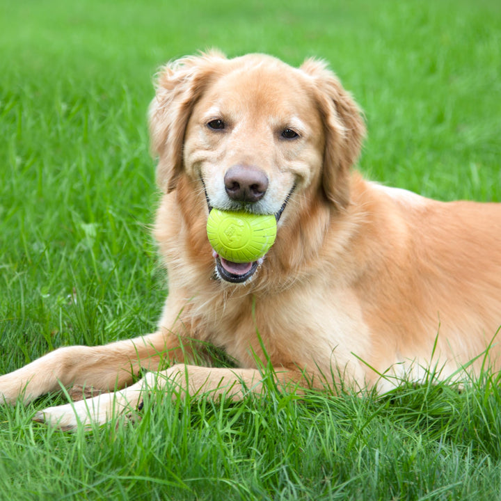
[[[212,209],[207,219],[207,237],[216,253],[227,261],[257,261],[275,241],[276,218]]]

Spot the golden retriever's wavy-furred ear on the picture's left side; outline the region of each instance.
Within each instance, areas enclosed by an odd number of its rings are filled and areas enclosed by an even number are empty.
[[[175,189],[182,173],[184,133],[193,106],[223,60],[224,54],[213,50],[172,61],[158,73],[148,116],[152,154],[159,158],[157,183],[166,193]]]

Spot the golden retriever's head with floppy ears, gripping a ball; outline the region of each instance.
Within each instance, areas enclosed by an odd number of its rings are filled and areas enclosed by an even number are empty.
[[[208,209],[283,214],[278,235],[289,198],[309,193],[347,207],[364,132],[349,93],[312,59],[294,68],[262,54],[182,58],[161,70],[150,106],[161,189],[186,176],[200,183]],[[245,282],[258,264],[215,259],[230,282]]]

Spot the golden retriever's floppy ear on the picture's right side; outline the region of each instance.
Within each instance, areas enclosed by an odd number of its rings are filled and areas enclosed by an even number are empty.
[[[300,69],[313,81],[324,123],[324,193],[338,209],[344,209],[350,201],[349,169],[360,154],[365,124],[353,97],[342,88],[326,63],[307,59]]]

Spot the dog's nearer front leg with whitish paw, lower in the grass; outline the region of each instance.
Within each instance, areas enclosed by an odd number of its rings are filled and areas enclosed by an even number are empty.
[[[287,383],[294,386],[303,378],[301,372],[284,369],[269,376],[278,381],[281,388]],[[224,369],[199,367],[196,365],[173,365],[169,369],[149,372],[134,385],[114,393],[105,393],[71,404],[49,407],[35,415],[35,421],[45,422],[54,427],[72,429],[77,425],[91,423],[104,424],[114,416],[134,412],[148,392],[165,391],[170,385],[173,398],[206,395],[211,398],[225,395],[231,399],[241,399],[248,392],[261,392],[263,376],[257,369]]]

